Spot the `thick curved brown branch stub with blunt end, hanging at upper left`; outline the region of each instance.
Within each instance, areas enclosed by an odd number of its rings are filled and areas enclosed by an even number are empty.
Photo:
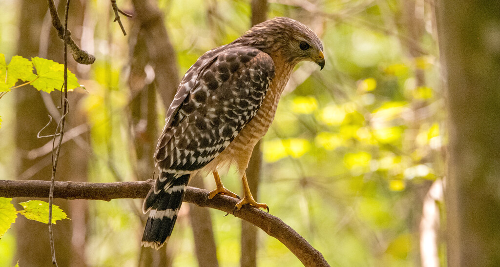
[[[54,28],[57,30],[57,36],[61,40],[64,39],[64,27],[61,24],[61,21],[59,19],[59,14],[57,13],[57,7],[55,6],[54,0],[47,0],[48,2],[48,9],[50,10],[50,16],[52,17],[52,25]],[[95,56],[92,54],[88,53],[85,50],[82,50],[71,38],[71,32],[67,30],[67,45],[69,46],[69,50],[71,51],[71,54],[73,55],[73,58],[76,62],[80,64],[85,64],[89,65],[92,64],[95,61]]]

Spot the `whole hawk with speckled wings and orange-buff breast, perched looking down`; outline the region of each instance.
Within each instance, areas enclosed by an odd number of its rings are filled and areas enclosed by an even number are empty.
[[[141,244],[159,249],[170,236],[189,177],[212,172],[217,193],[227,190],[217,173],[234,164],[243,182],[235,210],[257,203],[245,169],[257,141],[274,118],[281,92],[300,61],[324,66],[323,45],[304,24],[275,17],[229,44],[204,53],[184,74],[167,110],[154,159],[159,174],[142,205],[149,211]]]

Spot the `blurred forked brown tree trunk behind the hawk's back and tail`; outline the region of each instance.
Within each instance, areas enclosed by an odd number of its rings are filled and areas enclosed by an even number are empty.
[[[136,36],[132,67],[129,79],[132,101],[132,126],[135,129],[135,145],[139,177],[150,177],[147,172],[153,170],[152,155],[156,147],[156,105],[154,90],[158,92],[165,106],[170,105],[180,80],[176,67],[176,57],[173,46],[169,41],[163,17],[153,1],[132,1],[137,13],[133,21],[136,27]],[[154,80],[150,84],[146,80],[145,66],[152,66]],[[147,87],[143,88],[143,87]],[[139,129],[140,121],[146,122],[144,129]],[[143,123],[142,123],[143,124]],[[154,124],[154,126],[153,126]],[[194,186],[203,187],[200,177],[193,179]],[[191,227],[194,232],[195,254],[200,266],[218,266],[215,240],[211,217],[208,210],[191,205],[189,211]],[[144,220],[145,222],[145,220]],[[179,225],[177,225],[178,227]],[[165,246],[166,247],[166,246]],[[150,248],[141,249],[141,265],[171,265],[171,256],[168,249],[154,251]]]

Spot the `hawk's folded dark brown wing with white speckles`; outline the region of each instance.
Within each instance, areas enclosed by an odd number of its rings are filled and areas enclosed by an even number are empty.
[[[210,162],[256,114],[273,77],[272,58],[253,47],[229,44],[201,56],[167,112],[154,154],[160,170],[187,173]]]

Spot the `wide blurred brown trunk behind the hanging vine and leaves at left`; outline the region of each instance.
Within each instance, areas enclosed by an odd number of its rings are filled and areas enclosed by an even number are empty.
[[[59,14],[63,13],[65,1],[59,4]],[[75,28],[83,21],[84,3],[72,2],[69,12],[68,25]],[[42,56],[57,62],[62,62],[62,41],[57,37],[55,30],[50,23],[50,16],[47,13],[47,2],[45,0],[24,0],[21,5],[19,36],[17,54],[23,57]],[[73,33],[73,38],[78,38]],[[71,56],[69,56],[71,58]],[[75,73],[75,62],[68,60],[69,68]],[[78,75],[78,74],[76,74]],[[51,164],[50,153],[33,158],[29,157],[30,150],[43,146],[49,138],[37,138],[37,132],[47,123],[47,114],[59,112],[54,106],[58,104],[59,92],[47,95],[38,92],[29,86],[23,86],[14,90],[16,98],[15,113],[15,142],[17,150],[15,152],[19,164],[16,166],[18,179],[31,179],[33,175],[37,178],[50,179]],[[42,95],[45,94],[43,97]],[[82,114],[76,110],[78,93],[69,94],[69,104],[72,107],[68,115],[67,127],[70,129],[75,124],[85,121]],[[52,100],[53,99],[53,100]],[[55,104],[54,104],[55,103]],[[74,116],[74,117],[73,117]],[[60,117],[60,114],[59,114]],[[54,117],[55,123],[59,118]],[[50,134],[54,129],[54,123],[43,133]],[[81,137],[80,137],[81,138]],[[71,177],[77,177],[78,181],[86,181],[86,163],[88,151],[83,151],[73,141],[62,145],[60,162],[56,172],[56,179],[64,172]],[[69,177],[64,175],[65,177]],[[28,199],[16,199],[17,202]],[[86,202],[77,201],[69,204],[67,200],[54,199],[54,204],[60,206],[74,220],[60,221],[54,225],[54,242],[57,262],[60,266],[85,266],[84,242],[86,225]],[[75,208],[73,210],[72,208]],[[76,227],[78,235],[73,236],[72,227]],[[19,259],[20,266],[52,266],[48,226],[33,220],[19,217],[14,224],[16,233],[17,251],[15,259]],[[73,242],[74,241],[74,242]]]

